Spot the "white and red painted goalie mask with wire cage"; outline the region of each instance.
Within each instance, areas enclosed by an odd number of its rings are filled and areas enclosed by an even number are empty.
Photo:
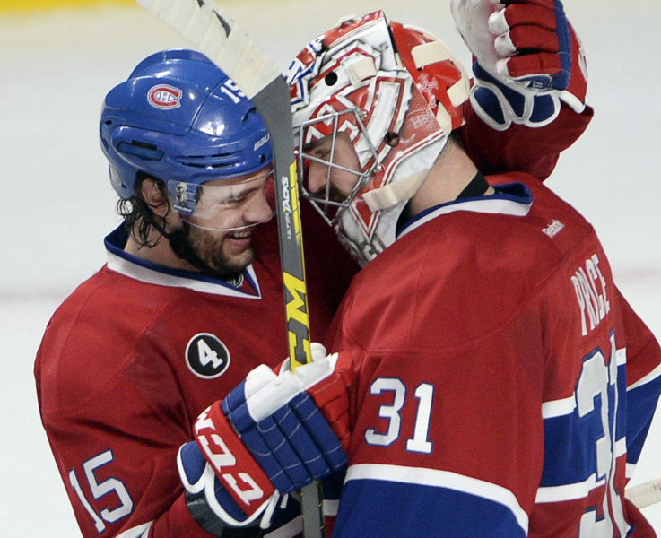
[[[312,41],[291,63],[288,83],[301,195],[365,265],[395,241],[405,204],[463,125],[468,78],[441,41],[378,11]],[[343,138],[356,169],[335,158]],[[313,151],[322,139],[324,155]],[[310,188],[310,163],[327,166],[324,187]],[[357,178],[344,198],[331,184],[338,172]]]

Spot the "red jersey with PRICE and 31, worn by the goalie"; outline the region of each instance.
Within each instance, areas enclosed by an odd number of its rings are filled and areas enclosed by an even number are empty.
[[[334,538],[654,536],[624,499],[661,350],[595,230],[536,178],[422,213],[354,278]],[[387,514],[387,517],[383,515]]]

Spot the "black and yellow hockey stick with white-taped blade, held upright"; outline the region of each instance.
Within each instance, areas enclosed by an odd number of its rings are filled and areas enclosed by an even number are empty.
[[[213,0],[136,0],[230,76],[264,117],[274,148],[275,198],[291,368],[311,360],[299,192],[287,83],[271,59]],[[302,491],[303,534],[323,538],[321,486]]]

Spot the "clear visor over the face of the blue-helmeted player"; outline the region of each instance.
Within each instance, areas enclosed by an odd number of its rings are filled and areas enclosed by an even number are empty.
[[[261,182],[261,185],[259,183]],[[274,170],[248,178],[245,181],[230,185],[208,185],[170,181],[171,203],[183,221],[202,230],[234,232],[248,230],[259,224],[270,221],[275,214],[275,185]],[[176,193],[174,196],[172,192]],[[248,193],[248,194],[246,194]],[[258,198],[264,195],[264,201]],[[247,195],[248,199],[238,203],[240,196]],[[206,204],[205,211],[200,213],[202,196],[212,198],[211,204]],[[257,200],[256,200],[257,197]],[[216,198],[213,200],[213,198]],[[241,224],[243,214],[247,211],[247,204],[265,203],[270,213],[256,222]],[[196,219],[196,221],[192,219]]]

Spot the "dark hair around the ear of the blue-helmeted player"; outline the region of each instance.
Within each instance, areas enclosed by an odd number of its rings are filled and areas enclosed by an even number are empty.
[[[170,213],[170,202],[168,198],[168,187],[161,179],[153,179],[156,187],[162,195],[163,202],[159,205],[148,204],[142,195],[142,186],[144,179],[148,177],[139,173],[135,180],[135,190],[133,195],[126,199],[117,200],[117,213],[124,219],[124,226],[131,236],[140,244],[141,247],[153,247],[158,244],[162,238],[162,230],[165,226],[165,218]],[[155,207],[167,205],[165,215],[160,216],[153,212]],[[158,230],[161,235],[157,239],[149,239],[152,230]]]

